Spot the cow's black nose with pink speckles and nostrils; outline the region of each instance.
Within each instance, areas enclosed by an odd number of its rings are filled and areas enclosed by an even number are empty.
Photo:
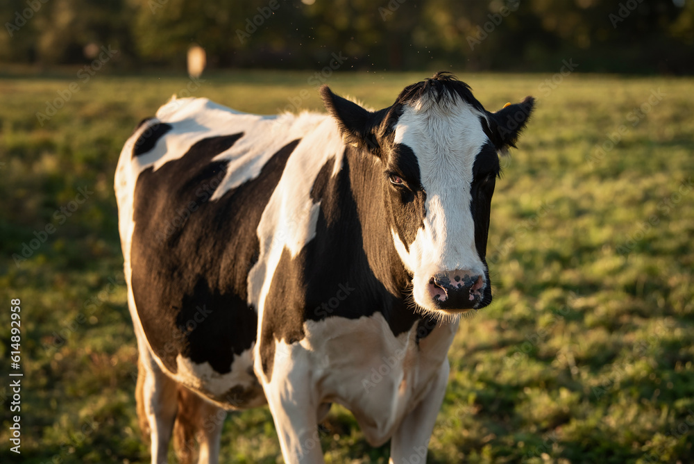
[[[432,304],[441,310],[459,311],[477,307],[484,297],[484,275],[466,270],[440,272],[427,285]]]

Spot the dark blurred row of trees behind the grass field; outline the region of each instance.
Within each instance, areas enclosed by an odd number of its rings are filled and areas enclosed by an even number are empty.
[[[362,71],[542,72],[572,57],[582,72],[694,72],[692,0],[3,0],[0,17],[0,63],[40,69],[103,45],[119,51],[111,70],[183,68],[195,43],[212,68],[341,52]]]

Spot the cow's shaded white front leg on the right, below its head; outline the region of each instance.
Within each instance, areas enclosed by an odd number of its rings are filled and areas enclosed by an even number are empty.
[[[391,439],[389,464],[425,463],[429,440],[434,431],[443,396],[446,395],[450,367],[448,359],[441,365],[432,379],[429,390],[422,401],[405,416]]]

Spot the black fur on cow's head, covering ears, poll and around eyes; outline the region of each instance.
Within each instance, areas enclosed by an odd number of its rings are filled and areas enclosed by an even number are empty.
[[[366,110],[338,97],[327,86],[321,88],[321,95],[328,112],[337,119],[344,140],[357,147],[357,151],[374,154],[380,160],[381,163],[375,162],[375,168],[384,170],[382,190],[385,192],[386,220],[408,250],[408,244],[414,242],[416,231],[421,228],[425,218],[426,192],[421,186],[418,162],[412,149],[393,142],[393,131],[398,117],[403,113],[403,106],[427,96],[437,103],[441,103],[443,99],[459,98],[486,115],[486,118],[480,117],[480,122],[490,142],[482,147],[475,158],[470,206],[475,222],[475,247],[486,267],[491,197],[496,177],[500,174],[497,152],[515,147],[515,142],[532,113],[534,99],[527,97],[522,103],[509,105],[497,113],[489,113],[475,99],[470,86],[458,81],[448,72],[438,72],[432,78],[409,85],[400,92],[392,106],[379,111]],[[389,185],[385,179],[391,175],[399,176],[403,183]],[[376,211],[371,217],[378,217],[379,214],[382,215],[383,211]],[[485,277],[489,282],[488,271]],[[491,287],[486,285],[482,301],[477,307],[487,306],[491,303],[491,298]]]

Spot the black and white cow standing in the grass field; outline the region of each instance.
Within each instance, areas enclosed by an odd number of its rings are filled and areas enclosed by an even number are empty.
[[[391,440],[391,463],[425,460],[457,316],[491,302],[498,153],[534,100],[489,113],[445,72],[378,111],[321,95],[330,115],[173,99],[121,152],[153,463],[172,435],[216,462],[225,411],[265,403],[287,463],[323,462],[332,403],[372,445]]]

